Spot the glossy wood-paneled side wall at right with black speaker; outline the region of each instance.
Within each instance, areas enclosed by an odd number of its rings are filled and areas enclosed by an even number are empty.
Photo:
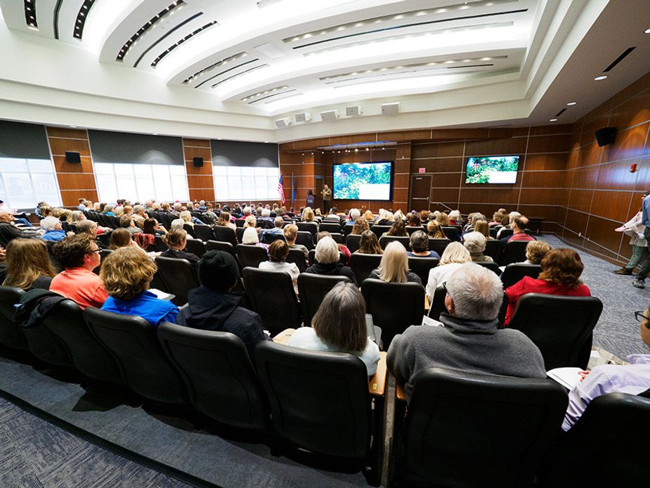
[[[616,127],[598,147],[595,131]],[[613,229],[628,221],[650,190],[650,73],[573,124],[559,235],[611,262],[627,262],[630,238]],[[630,167],[637,165],[637,172]]]

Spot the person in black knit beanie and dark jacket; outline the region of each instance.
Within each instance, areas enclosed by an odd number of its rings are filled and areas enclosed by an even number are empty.
[[[188,305],[178,314],[176,323],[237,335],[252,359],[255,346],[266,340],[266,335],[259,315],[239,307],[241,297],[230,293],[240,277],[235,258],[228,252],[208,251],[197,271],[201,286],[189,291]]]

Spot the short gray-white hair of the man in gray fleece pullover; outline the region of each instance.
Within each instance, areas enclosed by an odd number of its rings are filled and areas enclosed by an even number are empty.
[[[478,264],[464,264],[447,279],[447,294],[461,319],[494,320],[503,302],[503,284],[497,274]]]

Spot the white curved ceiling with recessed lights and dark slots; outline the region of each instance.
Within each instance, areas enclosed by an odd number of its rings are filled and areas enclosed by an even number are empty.
[[[549,124],[562,108],[554,123],[567,123],[650,70],[647,0],[0,0],[0,8],[0,118],[99,129],[288,141]],[[395,102],[399,113],[382,115]],[[354,105],[361,115],[346,117]],[[323,122],[331,110],[338,120]],[[299,113],[311,120],[296,122]],[[282,118],[292,124],[277,129]]]

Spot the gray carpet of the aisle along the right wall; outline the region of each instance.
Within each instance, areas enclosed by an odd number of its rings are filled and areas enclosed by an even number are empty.
[[[571,248],[555,236],[542,236],[554,248]],[[603,312],[594,329],[594,345],[602,347],[620,359],[628,354],[649,354],[650,351],[639,337],[639,323],[634,312],[643,310],[650,303],[649,288],[639,290],[632,286],[633,276],[620,276],[611,271],[615,264],[594,257],[585,251],[578,251],[585,264],[583,282],[594,297],[603,302]]]

